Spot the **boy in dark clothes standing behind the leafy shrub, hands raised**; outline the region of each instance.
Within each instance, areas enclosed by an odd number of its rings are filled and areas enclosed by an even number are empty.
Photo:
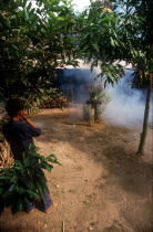
[[[21,160],[22,154],[29,150],[30,144],[33,144],[32,137],[40,136],[41,129],[26,116],[23,101],[19,98],[9,99],[6,104],[6,110],[11,117],[11,120],[3,126],[2,131],[4,138],[10,144],[14,160]],[[21,178],[21,182],[28,188],[26,176]],[[32,212],[34,209],[34,202],[30,202],[28,199],[24,199],[24,201],[27,212]],[[44,190],[41,201],[43,211],[47,213],[50,212],[53,208],[53,202],[47,190]]]

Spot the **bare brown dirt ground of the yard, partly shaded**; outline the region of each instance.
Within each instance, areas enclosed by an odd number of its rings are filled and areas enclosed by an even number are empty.
[[[139,159],[141,125],[120,127],[103,120],[89,126],[78,108],[45,109],[32,117],[43,130],[35,139],[44,156],[55,154],[62,166],[45,172],[51,198],[49,214],[35,208],[11,215],[4,209],[2,232],[151,232],[152,133]]]

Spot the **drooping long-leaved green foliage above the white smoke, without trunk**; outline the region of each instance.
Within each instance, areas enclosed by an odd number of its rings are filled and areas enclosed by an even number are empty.
[[[123,75],[125,64],[135,68],[139,60],[146,65],[146,51],[143,46],[144,19],[133,10],[131,1],[91,1],[76,25],[80,28],[82,56],[91,62],[91,70],[100,66],[99,77],[113,84]],[[109,8],[106,8],[106,3]],[[139,2],[136,3],[139,6]],[[118,10],[120,6],[124,11]],[[146,65],[147,66],[147,65]]]

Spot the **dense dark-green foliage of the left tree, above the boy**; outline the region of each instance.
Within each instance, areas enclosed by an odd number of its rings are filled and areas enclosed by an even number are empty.
[[[4,96],[47,99],[57,66],[76,65],[71,1],[0,3],[0,71]]]

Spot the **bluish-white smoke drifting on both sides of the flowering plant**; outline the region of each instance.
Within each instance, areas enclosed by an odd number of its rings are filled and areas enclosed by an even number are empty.
[[[83,68],[79,70],[62,70],[59,76],[62,82],[60,83],[61,89],[69,89],[70,102],[85,103],[89,99],[88,85],[93,87],[101,84],[100,80],[95,78],[99,70],[91,72],[89,66],[81,65]],[[111,102],[106,105],[103,117],[105,120],[120,126],[128,125],[142,125],[144,117],[146,91],[131,88],[133,81],[132,71],[125,71],[125,75],[112,87],[106,85],[105,93],[111,97]],[[150,107],[150,125],[153,124],[153,97]]]

